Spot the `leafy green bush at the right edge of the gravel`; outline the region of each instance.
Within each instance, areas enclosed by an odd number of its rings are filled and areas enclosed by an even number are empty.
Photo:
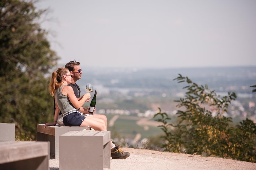
[[[187,83],[186,95],[178,102],[179,122],[169,123],[169,115],[155,114],[156,121],[162,122],[160,128],[166,143],[162,145],[166,151],[186,152],[188,154],[218,155],[239,160],[256,162],[256,124],[246,119],[240,125],[230,125],[231,118],[224,114],[235,93],[221,97],[208,86],[199,86],[189,78],[179,75],[178,83]]]

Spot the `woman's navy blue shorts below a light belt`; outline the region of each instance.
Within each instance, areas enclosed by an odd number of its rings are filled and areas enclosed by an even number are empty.
[[[63,118],[63,124],[65,126],[80,126],[84,121],[85,117],[81,116],[79,112],[73,112],[66,115]]]

